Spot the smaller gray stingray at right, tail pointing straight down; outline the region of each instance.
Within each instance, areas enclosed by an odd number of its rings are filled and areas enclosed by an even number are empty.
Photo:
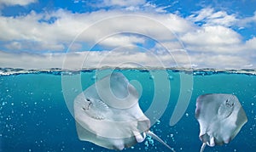
[[[204,94],[196,100],[195,117],[200,124],[201,152],[206,145],[228,144],[247,122],[235,95]]]

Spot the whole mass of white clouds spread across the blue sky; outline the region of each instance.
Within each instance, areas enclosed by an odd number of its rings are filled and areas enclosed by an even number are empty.
[[[24,0],[9,5],[35,2]],[[8,5],[7,1],[1,3]],[[42,13],[31,11],[15,17],[0,16],[1,66],[61,67],[67,50],[70,59],[76,63],[96,45],[95,49],[99,50],[90,53],[89,66],[96,66],[106,54],[107,65],[130,60],[156,66],[157,60],[148,55],[152,52],[166,67],[176,66],[175,63],[188,65],[189,61],[183,62],[188,55],[191,65],[197,67],[256,67],[256,38],[244,41],[231,28],[253,24],[255,14],[239,19],[236,14],[203,8],[189,17],[182,17],[144,0],[129,3],[104,0],[103,5],[122,9],[99,9],[79,14],[60,8]],[[124,48],[127,46],[129,49]],[[119,48],[125,50],[117,52]],[[135,48],[137,52],[134,52]],[[172,54],[166,54],[166,49]],[[186,50],[188,55],[180,50]],[[27,60],[34,64],[27,64]]]

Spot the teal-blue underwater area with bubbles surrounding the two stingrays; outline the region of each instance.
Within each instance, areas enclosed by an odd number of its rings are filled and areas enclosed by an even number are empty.
[[[150,128],[152,132],[171,145],[176,151],[200,151],[199,124],[195,119],[195,100],[204,93],[232,93],[239,99],[247,114],[247,123],[230,144],[207,147],[205,151],[255,151],[256,150],[256,75],[242,72],[212,72],[165,70],[166,78],[157,78],[163,70],[118,70],[130,81],[140,85],[140,107],[147,111],[154,93],[168,83],[170,93],[166,110]],[[188,75],[193,81],[189,90],[181,88]],[[63,77],[65,76],[65,77]],[[3,70],[0,75],[0,151],[113,151],[80,141],[72,115],[72,98],[80,92],[73,88],[73,77],[79,77],[82,89],[97,81],[96,70],[82,71],[27,71]],[[76,79],[74,79],[75,81]],[[64,82],[63,82],[64,81]],[[65,82],[66,81],[66,82]],[[70,88],[68,87],[70,83]],[[67,86],[63,88],[63,84]],[[136,83],[137,84],[137,83]],[[136,86],[136,85],[135,85]],[[68,93],[73,95],[68,96]],[[189,106],[173,126],[170,119],[181,92],[189,92]],[[68,98],[64,98],[68,96]],[[163,101],[157,101],[160,105]],[[183,103],[181,103],[183,104]],[[71,111],[70,111],[71,110]],[[150,119],[153,117],[150,117]],[[124,151],[170,151],[148,137]]]

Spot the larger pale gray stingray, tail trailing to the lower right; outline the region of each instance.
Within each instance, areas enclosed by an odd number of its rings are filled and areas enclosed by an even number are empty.
[[[136,88],[121,73],[103,77],[85,89],[74,99],[79,139],[121,150],[143,142],[148,134],[172,149],[149,131],[150,121],[140,109],[138,98]]]

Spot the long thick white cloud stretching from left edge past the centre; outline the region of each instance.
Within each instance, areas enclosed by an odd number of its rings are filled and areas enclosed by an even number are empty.
[[[124,15],[123,17],[121,15]],[[54,18],[54,21],[49,22]],[[113,18],[113,20],[111,20]],[[143,20],[142,20],[143,19]],[[99,23],[102,20],[102,24]],[[106,20],[106,21],[104,21]],[[36,14],[31,12],[27,15],[17,17],[0,17],[0,40],[4,42],[22,42],[20,48],[30,46],[32,50],[62,50],[68,46],[79,34],[77,41],[97,42],[99,38],[116,32],[137,32],[148,34],[156,40],[172,40],[174,33],[182,33],[191,29],[188,21],[175,14],[148,14],[148,13],[124,13],[122,11],[96,11],[93,13],[72,14],[63,9],[55,12]],[[86,29],[90,27],[90,30]],[[169,29],[166,32],[166,29]],[[84,31],[84,32],[82,32]],[[82,32],[82,33],[81,33]],[[124,44],[127,36],[119,37],[119,45]],[[142,42],[141,38],[130,37],[132,42]],[[105,46],[116,46],[113,38],[102,42]],[[32,45],[33,44],[33,45]],[[113,45],[114,44],[114,45]],[[9,43],[12,48],[13,43]],[[39,46],[39,47],[38,47]],[[24,48],[25,49],[25,48]]]

